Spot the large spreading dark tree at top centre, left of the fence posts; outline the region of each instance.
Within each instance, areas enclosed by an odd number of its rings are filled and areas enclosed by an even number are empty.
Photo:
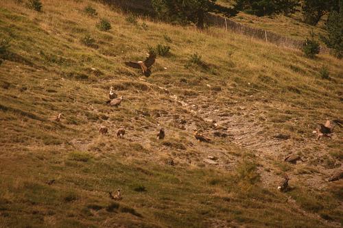
[[[236,14],[233,8],[225,8],[215,3],[216,0],[152,0],[152,6],[160,18],[176,23],[194,23],[204,28],[207,12],[220,12],[226,16]]]

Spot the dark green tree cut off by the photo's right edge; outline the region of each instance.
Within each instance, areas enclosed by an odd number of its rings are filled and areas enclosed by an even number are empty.
[[[327,47],[335,50],[338,58],[343,57],[343,0],[340,1],[340,8],[330,12],[325,24],[327,37],[322,37]]]

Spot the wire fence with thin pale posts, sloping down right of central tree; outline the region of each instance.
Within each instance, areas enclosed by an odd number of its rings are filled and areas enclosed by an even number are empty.
[[[248,27],[246,25],[242,25],[241,23],[232,21],[224,16],[208,14],[206,16],[206,20],[209,25],[223,27],[226,30],[230,29],[237,34],[244,34],[245,36],[250,36],[259,40],[265,40],[265,42],[271,42],[280,47],[302,49],[305,42],[303,40],[294,40],[292,38],[280,36],[279,34],[275,34],[274,32],[266,31],[264,29]],[[320,53],[329,54],[330,51],[331,49],[320,46]]]

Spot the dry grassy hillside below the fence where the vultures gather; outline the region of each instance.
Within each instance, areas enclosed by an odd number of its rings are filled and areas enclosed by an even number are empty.
[[[99,31],[101,18],[110,30]],[[0,227],[342,226],[343,182],[327,182],[342,167],[342,129],[320,141],[311,133],[342,118],[342,61],[88,0],[45,0],[43,12],[1,1],[0,31],[10,40],[0,65]],[[152,76],[123,64],[158,44],[171,51]],[[119,107],[105,104],[110,86],[125,96]],[[211,142],[197,142],[194,128]],[[304,162],[283,162],[289,154]],[[108,197],[117,188],[121,201]]]

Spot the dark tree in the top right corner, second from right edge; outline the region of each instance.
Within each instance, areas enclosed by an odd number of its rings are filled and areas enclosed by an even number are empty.
[[[338,0],[304,0],[302,6],[304,22],[317,25],[324,14],[332,10],[337,11],[338,8]]]

